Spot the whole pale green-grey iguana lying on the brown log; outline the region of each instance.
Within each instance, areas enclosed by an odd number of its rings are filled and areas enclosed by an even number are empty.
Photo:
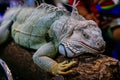
[[[33,61],[53,75],[69,74],[72,70],[66,69],[77,63],[56,62],[52,58],[58,51],[66,57],[76,57],[101,53],[105,47],[101,30],[94,21],[86,20],[76,11],[70,14],[46,3],[37,8],[9,9],[1,23],[0,44],[9,36],[17,44],[37,50]]]

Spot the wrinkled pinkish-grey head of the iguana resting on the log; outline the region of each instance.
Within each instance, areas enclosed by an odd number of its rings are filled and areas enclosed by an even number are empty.
[[[102,53],[104,48],[101,30],[92,20],[69,19],[61,29],[59,52],[67,57],[83,53]]]

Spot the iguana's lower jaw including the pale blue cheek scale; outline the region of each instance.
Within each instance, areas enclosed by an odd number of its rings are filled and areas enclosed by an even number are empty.
[[[92,47],[82,41],[77,42],[77,45],[72,43],[61,43],[59,51],[67,57],[75,57],[83,53],[102,53],[104,52],[104,45],[100,48]],[[79,46],[78,46],[79,44]]]

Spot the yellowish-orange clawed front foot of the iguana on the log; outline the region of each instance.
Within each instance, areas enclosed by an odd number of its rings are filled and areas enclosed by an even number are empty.
[[[71,61],[70,63],[67,63],[67,61],[64,61],[62,63],[56,63],[52,69],[51,72],[53,75],[66,75],[69,73],[72,73],[73,70],[67,70],[68,68],[70,68],[71,66],[77,64],[76,61]],[[67,71],[65,71],[67,70]]]

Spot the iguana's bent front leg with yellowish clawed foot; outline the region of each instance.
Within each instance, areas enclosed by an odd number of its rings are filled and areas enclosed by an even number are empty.
[[[64,71],[71,67],[72,65],[76,64],[75,61],[66,63],[57,63],[52,57],[55,56],[57,53],[56,48],[54,45],[50,42],[45,45],[43,45],[41,48],[39,48],[35,54],[33,55],[34,62],[43,70],[46,70],[53,75],[60,75],[60,74],[68,74],[71,73],[72,70]]]

